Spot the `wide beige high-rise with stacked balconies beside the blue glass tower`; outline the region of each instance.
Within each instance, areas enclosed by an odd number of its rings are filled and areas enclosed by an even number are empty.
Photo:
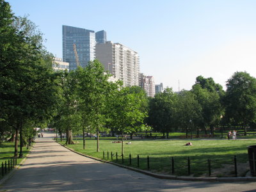
[[[138,52],[122,44],[96,44],[96,58],[123,86],[139,85],[140,59]]]

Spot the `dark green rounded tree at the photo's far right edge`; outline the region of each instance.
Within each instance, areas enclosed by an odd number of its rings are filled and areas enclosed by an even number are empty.
[[[247,72],[235,72],[226,86],[227,117],[237,125],[243,125],[246,135],[246,126],[256,122],[256,79]]]

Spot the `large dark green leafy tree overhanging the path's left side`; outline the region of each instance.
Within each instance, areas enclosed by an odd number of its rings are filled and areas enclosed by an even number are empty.
[[[28,35],[17,28],[17,17],[3,0],[0,10],[0,119],[15,129],[15,157],[20,133],[22,157],[23,125],[27,120],[43,119],[50,114],[56,78],[52,73],[51,54],[42,46],[40,34],[31,30]]]

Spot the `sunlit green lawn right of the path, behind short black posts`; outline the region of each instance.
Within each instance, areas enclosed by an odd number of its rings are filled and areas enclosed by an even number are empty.
[[[96,152],[96,140],[86,138],[86,149],[83,150],[83,140],[75,138],[75,145],[68,145],[77,152],[89,156],[111,161],[111,152],[113,152],[113,162],[116,162],[116,152],[118,154],[118,163],[122,163],[121,145],[122,143],[112,143],[116,138],[100,138],[100,152]],[[127,140],[128,141],[128,140]],[[125,143],[127,143],[125,141]],[[191,141],[193,146],[184,146]],[[223,164],[234,164],[234,156],[237,157],[237,163],[246,163],[248,161],[248,145],[256,145],[254,139],[238,140],[131,140],[131,145],[124,144],[124,164],[129,165],[129,154],[132,156],[132,165],[137,165],[137,155],[140,155],[140,169],[147,170],[147,156],[150,161],[150,171],[157,173],[172,174],[172,157],[174,159],[175,175],[188,175],[188,157],[191,159],[191,174],[200,176],[208,173],[208,161],[211,159],[211,168],[221,168]],[[62,142],[65,143],[64,141]],[[109,152],[109,159],[107,153]],[[244,175],[248,170],[244,170],[239,175]],[[225,176],[225,175],[223,175]]]

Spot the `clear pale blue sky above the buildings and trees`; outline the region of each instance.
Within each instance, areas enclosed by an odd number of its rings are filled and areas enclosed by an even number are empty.
[[[256,1],[6,0],[29,15],[62,58],[61,26],[107,31],[140,55],[140,72],[174,91],[190,90],[197,76],[225,88],[236,71],[256,76]]]

